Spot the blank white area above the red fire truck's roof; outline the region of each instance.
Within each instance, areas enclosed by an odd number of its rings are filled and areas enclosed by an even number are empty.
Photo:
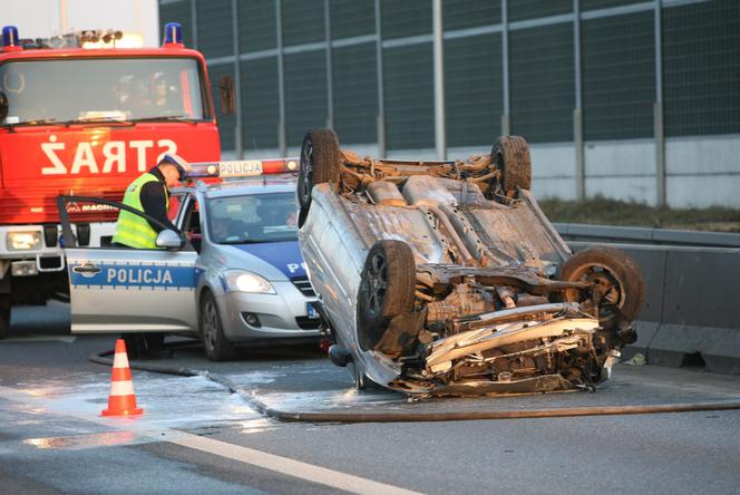
[[[0,26],[18,27],[21,38],[48,38],[84,29],[118,29],[160,43],[157,0],[0,0]]]

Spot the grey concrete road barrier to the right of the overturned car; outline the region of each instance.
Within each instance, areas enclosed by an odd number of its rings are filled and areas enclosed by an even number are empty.
[[[568,242],[574,251],[595,243]],[[740,375],[740,249],[612,244],[642,269],[645,307],[626,358]]]

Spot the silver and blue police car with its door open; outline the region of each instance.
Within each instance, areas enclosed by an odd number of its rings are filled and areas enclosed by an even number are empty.
[[[162,231],[156,250],[79,245],[70,204],[147,215],[60,196],[72,333],[196,331],[212,360],[234,357],[238,344],[318,340],[295,179],[286,174],[296,168],[295,159],[193,164],[189,176],[201,179],[169,197],[168,215],[183,235]]]

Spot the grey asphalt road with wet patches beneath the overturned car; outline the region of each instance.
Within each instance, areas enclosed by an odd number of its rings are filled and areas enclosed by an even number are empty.
[[[313,348],[207,369],[286,410],[393,411],[408,423],[280,423],[204,377],[134,371],[137,419],[101,418],[114,338],[68,333],[68,309],[23,309],[0,342],[0,493],[736,493],[740,411],[415,423],[422,410],[740,400],[740,377],[615,368],[595,394],[409,402],[358,395]]]

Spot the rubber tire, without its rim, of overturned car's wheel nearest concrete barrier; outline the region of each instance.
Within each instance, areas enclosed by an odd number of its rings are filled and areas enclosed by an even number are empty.
[[[620,311],[627,320],[635,320],[645,302],[645,282],[637,263],[624,251],[604,246],[578,251],[561,266],[559,279],[573,282],[583,266],[593,264],[606,266],[622,281],[624,301]],[[573,301],[573,294],[572,291],[565,291],[564,299]]]

